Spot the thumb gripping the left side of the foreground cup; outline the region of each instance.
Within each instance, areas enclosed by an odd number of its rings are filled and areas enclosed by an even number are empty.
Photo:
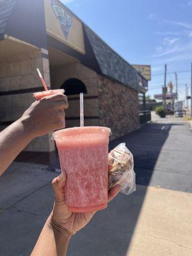
[[[52,189],[54,191],[54,197],[56,202],[61,202],[65,200],[65,183],[66,183],[66,173],[61,172],[61,174],[52,180]]]

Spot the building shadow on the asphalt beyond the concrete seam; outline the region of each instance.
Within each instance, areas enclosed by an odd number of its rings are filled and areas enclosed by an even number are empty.
[[[111,150],[119,143],[125,142],[126,147],[131,150],[134,156],[136,184],[145,186],[150,184],[159,153],[173,125],[183,124],[149,123],[138,131],[131,132],[127,136],[111,141],[109,144],[109,149]]]

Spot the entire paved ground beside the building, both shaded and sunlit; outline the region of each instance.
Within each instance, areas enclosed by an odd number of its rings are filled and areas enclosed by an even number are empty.
[[[69,256],[192,255],[192,133],[165,118],[125,141],[135,157],[137,191],[118,195],[72,237]],[[0,179],[0,255],[29,255],[51,212],[51,180],[40,164],[13,163]]]

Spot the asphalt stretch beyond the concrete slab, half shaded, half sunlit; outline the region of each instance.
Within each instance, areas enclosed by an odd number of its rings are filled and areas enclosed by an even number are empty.
[[[162,118],[113,141],[134,156],[136,183],[192,192],[192,131],[177,118]]]

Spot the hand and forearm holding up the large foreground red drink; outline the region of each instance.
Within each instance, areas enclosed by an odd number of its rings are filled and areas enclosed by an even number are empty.
[[[81,230],[92,219],[96,212],[75,213],[68,211],[65,204],[66,174],[52,180],[55,203],[51,215],[47,219],[44,228],[31,256],[66,256],[70,237]],[[120,185],[115,186],[108,193],[108,201],[111,201],[120,191]]]

